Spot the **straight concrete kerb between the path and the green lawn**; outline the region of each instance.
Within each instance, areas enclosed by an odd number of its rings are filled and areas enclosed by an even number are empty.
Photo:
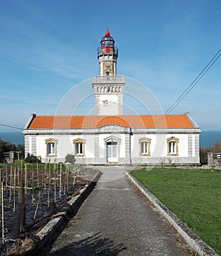
[[[183,224],[182,221],[171,212],[161,201],[158,200],[155,196],[147,190],[138,180],[136,180],[128,171],[125,171],[126,175],[133,182],[133,184],[138,187],[138,190],[151,201],[155,208],[164,215],[167,221],[169,221],[172,226],[178,231],[178,233],[183,237],[186,243],[194,249],[200,256],[220,256],[214,249],[211,249],[207,243],[205,243],[201,238],[199,238],[188,226]]]

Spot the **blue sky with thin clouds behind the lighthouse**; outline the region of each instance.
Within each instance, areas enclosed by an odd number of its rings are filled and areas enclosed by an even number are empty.
[[[23,128],[31,113],[55,114],[73,86],[99,75],[106,27],[118,75],[143,83],[166,111],[220,49],[220,10],[220,0],[1,1],[0,123]],[[221,130],[220,78],[221,58],[171,114],[190,112],[202,130]],[[88,97],[77,114],[93,105]]]

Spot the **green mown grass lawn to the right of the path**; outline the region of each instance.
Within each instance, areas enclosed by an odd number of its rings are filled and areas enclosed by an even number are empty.
[[[221,171],[154,168],[132,175],[221,255]]]

